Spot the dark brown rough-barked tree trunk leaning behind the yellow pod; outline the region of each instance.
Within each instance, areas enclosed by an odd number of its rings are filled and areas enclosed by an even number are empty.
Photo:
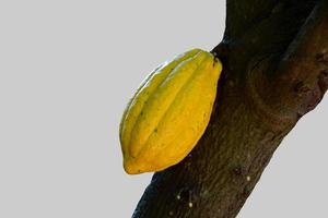
[[[133,218],[236,217],[272,154],[328,87],[328,0],[227,0],[210,123],[156,172]]]

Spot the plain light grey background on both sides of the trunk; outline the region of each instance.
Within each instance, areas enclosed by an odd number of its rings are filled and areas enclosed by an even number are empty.
[[[222,38],[223,0],[0,1],[0,217],[130,217],[118,123],[143,77]],[[238,218],[327,217],[326,98],[277,150]]]

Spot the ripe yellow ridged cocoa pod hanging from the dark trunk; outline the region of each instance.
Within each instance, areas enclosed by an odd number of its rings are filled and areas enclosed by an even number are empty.
[[[192,49],[145,78],[119,128],[127,173],[160,171],[190,153],[209,123],[221,70],[212,53]]]

